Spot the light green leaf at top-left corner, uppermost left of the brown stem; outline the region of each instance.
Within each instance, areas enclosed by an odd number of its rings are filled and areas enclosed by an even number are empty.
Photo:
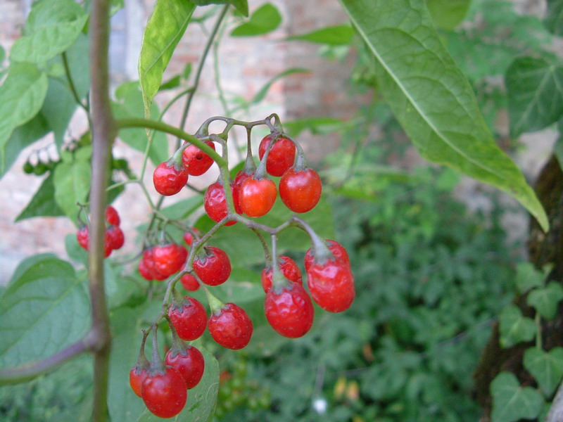
[[[36,1],[25,24],[25,35],[15,41],[13,61],[43,63],[63,53],[82,32],[88,15],[72,0]]]

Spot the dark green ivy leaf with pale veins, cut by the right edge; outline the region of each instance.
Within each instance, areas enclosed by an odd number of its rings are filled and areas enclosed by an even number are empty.
[[[563,67],[545,58],[521,57],[506,72],[510,133],[543,129],[563,114]]]

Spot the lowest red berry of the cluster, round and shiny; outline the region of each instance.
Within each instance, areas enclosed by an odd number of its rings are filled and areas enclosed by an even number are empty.
[[[181,373],[167,366],[165,373],[149,374],[145,378],[141,385],[141,397],[153,414],[159,418],[172,418],[186,404],[186,382]]]

